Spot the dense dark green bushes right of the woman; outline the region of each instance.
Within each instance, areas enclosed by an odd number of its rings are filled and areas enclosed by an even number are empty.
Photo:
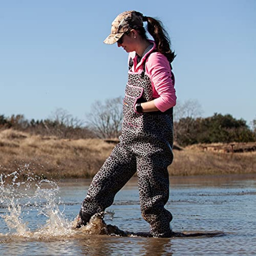
[[[254,120],[254,124],[256,124]],[[254,126],[255,127],[255,126]],[[196,143],[229,143],[256,141],[256,129],[243,119],[215,113],[210,117],[186,117],[174,122],[174,137],[181,146]]]

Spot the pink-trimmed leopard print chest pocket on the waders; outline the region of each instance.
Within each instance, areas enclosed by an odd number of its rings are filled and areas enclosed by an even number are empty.
[[[141,114],[134,109],[137,101],[142,97],[143,88],[127,84],[123,101],[124,124],[139,127],[141,124]]]

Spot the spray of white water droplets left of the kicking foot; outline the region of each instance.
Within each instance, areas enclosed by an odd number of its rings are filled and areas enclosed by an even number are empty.
[[[26,169],[28,169],[28,165],[26,165]],[[11,174],[0,175],[0,204],[6,210],[5,214],[0,216],[9,228],[9,232],[5,236],[41,239],[42,237],[65,236],[72,233],[70,221],[58,207],[60,187],[57,182],[32,175],[33,173],[30,172],[22,172],[22,169]],[[25,222],[24,219],[29,220],[28,215],[35,210],[41,221],[41,215],[46,217],[44,218],[46,223],[41,226],[37,224],[39,227],[31,231],[28,228],[29,221]]]

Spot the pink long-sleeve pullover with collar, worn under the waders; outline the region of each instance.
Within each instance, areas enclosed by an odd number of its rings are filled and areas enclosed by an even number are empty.
[[[133,66],[130,72],[140,73],[143,70],[142,63],[154,49],[156,44],[154,41],[153,47],[141,58],[138,63],[135,52],[129,54],[129,59],[132,58]],[[176,94],[174,89],[175,78],[171,73],[171,67],[167,58],[160,52],[152,52],[145,62],[145,73],[150,77],[153,86],[153,98],[156,108],[164,112],[176,105]]]

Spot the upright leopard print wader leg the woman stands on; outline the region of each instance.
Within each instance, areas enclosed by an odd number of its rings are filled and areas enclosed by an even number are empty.
[[[141,214],[150,224],[150,233],[154,237],[172,235],[172,214],[164,208],[169,198],[168,159],[163,153],[137,157]]]

